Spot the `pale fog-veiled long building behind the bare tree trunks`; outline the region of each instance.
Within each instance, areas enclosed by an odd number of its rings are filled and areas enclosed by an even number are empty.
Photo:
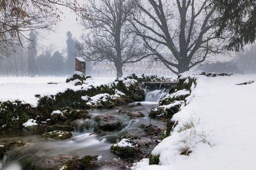
[[[86,63],[87,64],[87,63]],[[115,77],[116,69],[113,62],[104,60],[102,62],[92,62],[92,76]],[[124,66],[124,75],[135,73],[157,74],[159,76],[172,76],[173,73],[162,62],[152,62],[151,59],[143,59],[139,62],[129,63]]]

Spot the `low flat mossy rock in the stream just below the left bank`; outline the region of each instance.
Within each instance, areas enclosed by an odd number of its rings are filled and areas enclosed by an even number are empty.
[[[41,135],[42,138],[52,138],[56,140],[64,140],[72,137],[71,132],[66,131],[52,131],[52,132],[45,132]]]

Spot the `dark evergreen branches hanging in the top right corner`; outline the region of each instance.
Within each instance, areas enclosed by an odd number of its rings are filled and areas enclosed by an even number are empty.
[[[217,35],[229,34],[228,50],[239,51],[256,38],[256,1],[212,0],[219,12]]]

